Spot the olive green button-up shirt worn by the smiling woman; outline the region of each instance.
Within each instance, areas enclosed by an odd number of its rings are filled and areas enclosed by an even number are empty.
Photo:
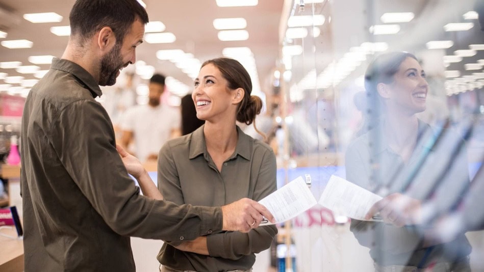
[[[167,200],[220,206],[241,198],[258,201],[276,190],[276,159],[268,145],[237,127],[236,150],[218,171],[207,152],[204,127],[168,141],[160,150],[158,187]],[[268,249],[276,233],[273,225],[248,233],[213,232],[207,236],[209,256],[183,252],[165,243],[158,260],[180,270],[247,270],[255,261],[254,253]]]

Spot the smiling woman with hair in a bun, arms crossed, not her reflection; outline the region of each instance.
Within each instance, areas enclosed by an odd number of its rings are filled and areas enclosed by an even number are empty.
[[[260,200],[275,191],[274,153],[236,125],[236,120],[252,123],[261,111],[262,101],[250,96],[251,90],[250,76],[236,60],[202,64],[192,98],[205,125],[160,150],[158,187],[166,200],[220,206],[244,197]],[[262,226],[166,242],[158,260],[162,271],[250,271],[254,253],[268,249],[276,232],[274,226]]]

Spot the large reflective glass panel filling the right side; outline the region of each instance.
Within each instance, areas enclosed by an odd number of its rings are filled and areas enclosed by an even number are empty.
[[[288,222],[296,270],[484,269],[483,5],[286,1],[279,186],[310,174],[319,200],[334,175],[375,197],[332,191]]]

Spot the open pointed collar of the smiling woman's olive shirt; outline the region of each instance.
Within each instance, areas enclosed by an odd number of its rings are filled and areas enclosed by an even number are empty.
[[[201,125],[192,133],[192,139],[190,141],[190,154],[189,159],[193,159],[201,154],[205,157],[205,159],[209,158],[209,153],[207,152],[207,145],[205,143],[205,135],[203,134],[203,128],[205,124]],[[239,126],[237,126],[237,133],[239,135],[239,139],[237,140],[237,147],[235,149],[234,155],[231,156],[229,159],[235,158],[237,155],[240,155],[246,160],[250,160],[250,154],[252,152],[250,142],[252,138],[249,135],[245,134]]]

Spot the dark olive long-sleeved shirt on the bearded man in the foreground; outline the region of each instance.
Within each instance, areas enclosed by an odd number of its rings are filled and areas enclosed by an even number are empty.
[[[21,130],[27,272],[134,271],[130,236],[194,239],[222,227],[219,207],[140,195],[116,152],[108,114],[94,100],[100,95],[81,66],[54,59],[27,97]]]

